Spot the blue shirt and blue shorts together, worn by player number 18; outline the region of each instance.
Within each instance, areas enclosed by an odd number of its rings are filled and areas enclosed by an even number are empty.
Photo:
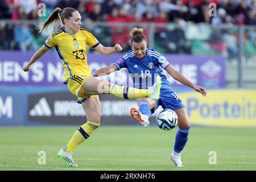
[[[170,63],[161,53],[155,49],[147,48],[146,56],[139,59],[133,53],[133,50],[128,51],[121,59],[114,63],[117,69],[127,68],[133,80],[133,86],[138,89],[147,89],[155,82],[155,77],[159,75],[162,78],[162,87],[160,90],[160,98],[156,101],[155,109],[159,105],[163,109],[180,109],[185,107],[183,102],[172,89],[171,83],[163,74],[163,69],[166,69]],[[154,110],[152,110],[154,113]]]

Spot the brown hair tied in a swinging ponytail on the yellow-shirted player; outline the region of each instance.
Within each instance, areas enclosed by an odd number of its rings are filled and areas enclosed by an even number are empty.
[[[47,20],[43,24],[38,26],[39,33],[44,31],[48,26],[51,26],[57,21],[60,21],[61,26],[64,26],[64,19],[69,19],[72,16],[72,13],[75,11],[77,10],[73,9],[72,7],[65,7],[63,10],[61,10],[59,7],[56,7],[56,9],[53,10],[52,14],[47,18]]]

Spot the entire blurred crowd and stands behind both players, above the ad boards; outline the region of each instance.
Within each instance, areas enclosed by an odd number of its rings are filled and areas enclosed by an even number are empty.
[[[38,14],[40,3],[46,5],[46,16]],[[217,5],[215,16],[209,15],[210,3]],[[56,7],[79,10],[82,27],[105,46],[119,43],[124,51],[130,48],[130,27],[144,25],[149,46],[162,52],[221,54],[236,61],[240,39],[247,62],[256,54],[255,28],[245,29],[243,40],[239,38],[240,26],[256,25],[256,0],[0,0],[0,49],[42,46],[48,32],[40,36],[34,23],[43,22]]]

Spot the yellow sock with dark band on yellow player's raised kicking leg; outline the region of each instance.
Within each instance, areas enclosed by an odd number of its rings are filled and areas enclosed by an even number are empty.
[[[150,90],[148,89],[135,89],[115,84],[110,86],[109,93],[112,94],[112,96],[125,99],[145,98],[150,96]]]

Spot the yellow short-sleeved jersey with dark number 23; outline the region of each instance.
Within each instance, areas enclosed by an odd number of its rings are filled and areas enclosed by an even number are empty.
[[[64,27],[52,33],[44,45],[48,48],[55,47],[60,59],[63,61],[64,83],[73,75],[92,76],[87,63],[86,46],[95,48],[100,44],[88,31],[80,28],[76,34],[69,34]]]

